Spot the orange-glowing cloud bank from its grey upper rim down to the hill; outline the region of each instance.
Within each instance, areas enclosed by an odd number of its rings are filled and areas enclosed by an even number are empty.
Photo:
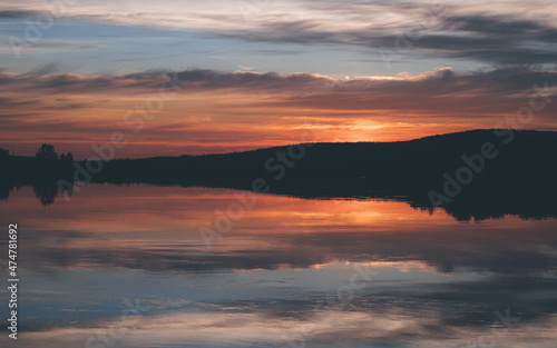
[[[13,130],[4,139],[10,148],[21,150],[20,139],[40,139],[87,151],[88,143],[104,141],[114,129],[136,127],[125,123],[124,116],[145,108],[164,87],[168,93],[177,90],[176,95],[140,135],[133,136],[136,140],[123,156],[222,152],[296,142],[303,122],[320,123],[321,141],[392,141],[494,128],[528,106],[537,93],[535,86],[544,97],[557,100],[557,71],[519,68],[468,73],[443,68],[414,76],[349,79],[208,69],[128,74],[3,71],[0,117],[11,120],[4,121],[4,128]],[[556,129],[555,112],[557,103],[547,103],[528,128]],[[55,120],[62,125],[45,132]],[[180,126],[165,128],[175,123]]]

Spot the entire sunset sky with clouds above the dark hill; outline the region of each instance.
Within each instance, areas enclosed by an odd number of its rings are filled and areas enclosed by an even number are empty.
[[[117,158],[557,130],[555,1],[0,1],[0,147]],[[311,130],[311,139],[306,136]]]

